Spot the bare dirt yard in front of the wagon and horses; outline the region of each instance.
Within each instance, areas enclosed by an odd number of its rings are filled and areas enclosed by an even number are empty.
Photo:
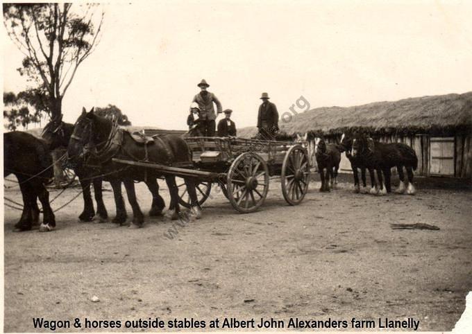
[[[262,209],[246,215],[220,193],[173,239],[165,237],[167,218],[146,216],[142,229],[78,222],[81,197],[56,213],[50,233],[13,232],[19,211],[6,207],[4,331],[49,331],[35,329],[33,317],[412,317],[421,331],[450,331],[472,290],[470,188],[418,179],[415,196],[377,197],[352,193],[348,182],[343,175],[337,190],[321,194],[315,177],[303,203],[288,206],[272,180]],[[77,192],[68,189],[53,209]],[[13,189],[5,195],[21,199]],[[104,195],[114,216],[112,193]],[[149,210],[144,184],[137,195]]]

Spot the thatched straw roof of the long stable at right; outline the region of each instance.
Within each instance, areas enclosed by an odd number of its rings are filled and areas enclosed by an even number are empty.
[[[334,135],[362,128],[376,134],[453,134],[472,130],[472,91],[464,94],[405,98],[355,107],[321,107],[279,121],[289,134]],[[238,130],[252,137],[254,127]]]

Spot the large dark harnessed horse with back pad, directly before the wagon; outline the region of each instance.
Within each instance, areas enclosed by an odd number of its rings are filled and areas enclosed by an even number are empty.
[[[184,139],[167,135],[155,137],[155,139],[145,138],[143,141],[144,143],[137,143],[131,134],[119,128],[117,123],[94,114],[93,108],[90,112],[86,112],[83,108],[67,147],[71,164],[90,161],[92,164],[98,164],[101,171],[108,175],[106,179],[113,188],[117,205],[117,217],[113,222],[120,224],[126,220],[126,210],[121,197],[121,182],[124,183],[128,202],[133,208],[131,227],[142,227],[144,222],[144,216],[136,200],[135,180],[145,182],[151,193],[156,194],[158,193],[156,179],[165,177],[171,195],[169,205],[169,211],[172,211],[171,219],[179,218],[180,207],[175,175],[163,175],[154,168],[138,168],[128,165],[124,167],[123,164],[112,161],[112,158],[149,161],[167,166],[183,164],[192,166],[190,151]],[[191,198],[192,209],[196,213],[196,218],[199,219],[201,218],[201,208],[196,197],[194,179],[192,177],[184,177],[184,179]],[[156,200],[156,197],[153,197],[153,206],[160,202]]]

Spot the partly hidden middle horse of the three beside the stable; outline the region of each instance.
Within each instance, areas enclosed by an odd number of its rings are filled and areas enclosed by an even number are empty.
[[[366,162],[361,157],[353,157],[353,135],[352,134],[342,134],[341,143],[339,143],[340,152],[346,152],[346,157],[351,162],[351,168],[354,175],[354,192],[355,193],[369,193],[366,185],[366,169],[369,169],[369,174],[371,175],[371,191],[374,191],[377,186],[376,175],[373,168],[367,168]],[[359,174],[357,168],[360,169],[361,179],[362,179],[362,189],[360,188]]]

